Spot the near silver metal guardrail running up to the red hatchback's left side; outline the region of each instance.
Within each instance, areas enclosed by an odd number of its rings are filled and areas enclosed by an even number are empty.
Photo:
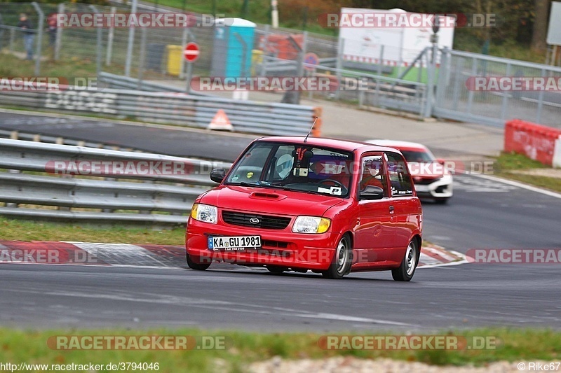
[[[0,206],[0,215],[186,223],[196,196],[216,185],[208,177],[210,170],[230,166],[168,155],[0,139],[0,169],[5,170],[0,171],[0,202],[5,204]]]

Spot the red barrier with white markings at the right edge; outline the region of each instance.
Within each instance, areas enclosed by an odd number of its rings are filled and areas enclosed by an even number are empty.
[[[510,120],[504,128],[504,150],[524,154],[548,166],[561,167],[561,129]]]

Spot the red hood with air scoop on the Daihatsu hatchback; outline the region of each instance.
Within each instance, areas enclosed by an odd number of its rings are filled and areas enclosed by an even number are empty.
[[[199,202],[219,209],[285,216],[323,216],[327,209],[343,203],[344,199],[273,188],[220,185],[203,195]]]

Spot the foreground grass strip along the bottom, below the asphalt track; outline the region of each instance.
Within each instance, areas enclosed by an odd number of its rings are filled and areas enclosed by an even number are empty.
[[[192,351],[62,351],[47,346],[49,337],[65,335],[177,335],[221,337],[225,349]],[[337,335],[350,335],[337,333]],[[361,335],[372,335],[361,333]],[[395,332],[377,332],[374,335],[396,335]],[[559,360],[561,333],[550,330],[478,329],[437,332],[434,335],[495,337],[496,349],[461,351],[380,351],[380,350],[325,350],[318,345],[319,334],[312,333],[250,333],[234,331],[176,330],[13,330],[0,329],[0,361],[11,363],[43,364],[107,364],[119,362],[158,363],[158,372],[212,372],[217,371],[217,360],[224,367],[220,371],[244,372],[249,363],[267,360],[273,356],[286,359],[328,358],[354,356],[356,358],[393,358],[419,361],[430,365],[482,365],[499,360]],[[23,348],[25,346],[25,348]]]

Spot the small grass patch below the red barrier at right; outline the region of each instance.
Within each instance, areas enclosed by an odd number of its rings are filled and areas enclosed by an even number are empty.
[[[496,176],[510,178],[516,181],[521,181],[522,183],[535,185],[539,188],[553,190],[555,192],[561,192],[561,178],[518,174],[515,172],[530,169],[550,168],[543,165],[541,162],[529,159],[525,155],[503,152],[496,158],[494,168]]]

